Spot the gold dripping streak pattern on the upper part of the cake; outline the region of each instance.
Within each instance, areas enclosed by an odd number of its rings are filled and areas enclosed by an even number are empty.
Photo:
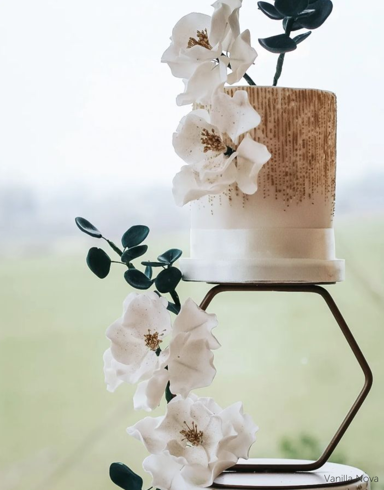
[[[264,198],[281,201],[287,209],[292,204],[311,202],[324,196],[335,203],[336,184],[336,96],[314,89],[283,87],[226,87],[233,96],[246,90],[251,105],[261,116],[261,123],[250,135],[266,145],[272,155],[259,173],[258,192]],[[229,142],[228,142],[229,143]],[[236,188],[225,193],[241,192]],[[244,196],[244,203],[247,196]]]

